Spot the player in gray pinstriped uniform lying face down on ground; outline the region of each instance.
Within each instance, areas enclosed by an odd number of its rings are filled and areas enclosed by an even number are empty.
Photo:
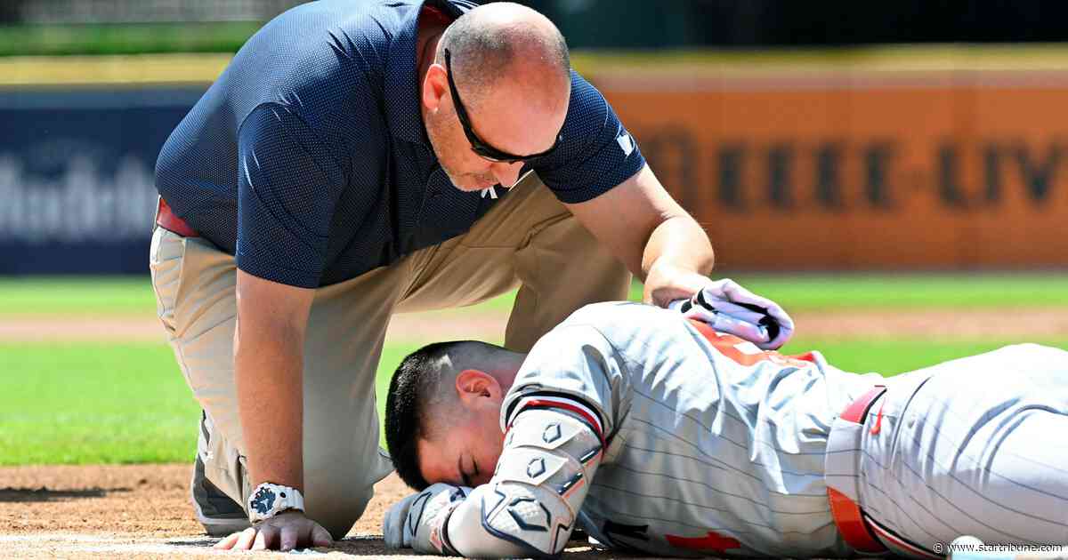
[[[658,556],[1068,540],[1068,352],[1036,345],[883,379],[595,304],[525,355],[413,353],[386,421],[422,491],[386,540],[424,553],[552,555],[576,527]]]

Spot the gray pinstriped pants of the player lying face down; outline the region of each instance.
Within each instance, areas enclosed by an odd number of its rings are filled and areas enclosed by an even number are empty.
[[[883,545],[1068,543],[1068,352],[1017,345],[886,381],[859,441],[833,431],[827,473]]]

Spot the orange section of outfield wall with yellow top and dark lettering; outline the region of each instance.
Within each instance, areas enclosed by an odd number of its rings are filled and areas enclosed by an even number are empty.
[[[1064,51],[790,59],[593,73],[721,266],[1068,266]]]

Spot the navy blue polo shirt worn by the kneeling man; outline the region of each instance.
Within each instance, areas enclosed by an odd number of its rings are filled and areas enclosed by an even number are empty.
[[[452,17],[475,5],[426,2]],[[422,5],[318,0],[267,23],[163,145],[159,193],[245,272],[304,288],[470,229],[498,201],[453,187],[426,137],[415,68]],[[565,203],[594,198],[645,164],[574,71],[563,135],[531,166]]]

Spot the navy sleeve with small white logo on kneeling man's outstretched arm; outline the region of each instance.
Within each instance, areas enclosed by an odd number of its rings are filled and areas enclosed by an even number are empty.
[[[556,197],[583,203],[633,177],[645,166],[638,143],[604,96],[571,70],[571,99],[556,153],[531,166]]]

